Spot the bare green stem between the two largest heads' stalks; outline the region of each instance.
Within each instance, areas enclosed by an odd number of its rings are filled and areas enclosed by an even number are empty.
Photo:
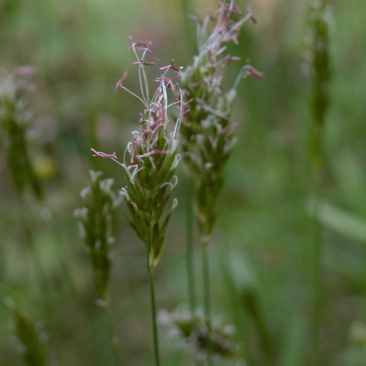
[[[187,280],[188,280],[188,299],[192,314],[196,307],[196,294],[194,284],[194,265],[193,265],[193,182],[190,179],[187,192],[187,208],[186,208],[186,264],[187,264]]]

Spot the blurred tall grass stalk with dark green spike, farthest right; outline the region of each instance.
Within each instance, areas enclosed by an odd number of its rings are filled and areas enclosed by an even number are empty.
[[[308,42],[307,65],[310,77],[310,164],[312,169],[312,193],[317,198],[324,194],[325,161],[323,152],[325,113],[329,104],[329,8],[326,0],[310,1],[309,29],[306,40]],[[317,217],[318,205],[315,204],[313,216]],[[320,327],[323,313],[323,285],[322,274],[322,226],[313,220],[313,236],[311,245],[311,287],[313,292],[313,347],[314,365],[322,364],[320,349]]]

